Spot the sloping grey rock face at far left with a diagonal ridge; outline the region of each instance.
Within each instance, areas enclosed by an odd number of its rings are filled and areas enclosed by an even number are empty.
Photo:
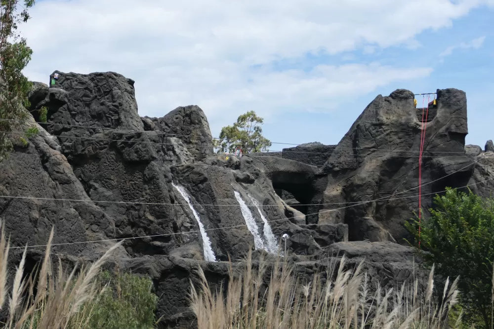
[[[40,130],[27,145],[18,144],[15,152],[0,163],[0,216],[14,246],[44,245],[55,228],[54,244],[102,240],[112,236],[115,219],[91,202],[66,157],[60,153],[56,138]],[[11,198],[10,198],[11,197]],[[63,255],[100,256],[109,243],[55,246]],[[34,250],[32,250],[35,252]],[[124,252],[123,255],[126,255]]]

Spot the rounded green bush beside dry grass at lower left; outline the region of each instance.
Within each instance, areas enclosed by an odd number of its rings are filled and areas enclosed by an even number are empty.
[[[104,291],[84,305],[81,315],[88,316],[90,312],[87,329],[155,328],[158,297],[152,291],[151,279],[105,271],[100,274],[98,285]]]

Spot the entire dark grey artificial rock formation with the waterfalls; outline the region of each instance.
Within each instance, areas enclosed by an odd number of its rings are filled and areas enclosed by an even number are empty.
[[[42,245],[53,225],[54,243],[151,236],[125,240],[112,263],[152,277],[158,316],[168,327],[193,319],[187,300],[193,268],[201,266],[212,285],[224,282],[224,261],[259,249],[255,236],[266,234],[265,225],[276,242],[289,235],[290,261],[300,273],[314,274],[346,253],[350,265],[365,256],[384,286],[412,278],[412,249],[400,243],[408,237],[403,223],[418,209],[422,129],[425,210],[445,186],[470,184],[481,195],[493,187],[494,152],[465,146],[460,90],[438,90],[426,127],[412,92],[399,89],[377,96],[335,146],[310,143],[227,159],[213,154],[197,106],[140,117],[133,80],[111,72],[54,73],[55,85],[35,83],[30,94],[33,118],[25,126],[38,126],[40,134],[0,163],[0,214],[11,241]],[[48,109],[46,124],[39,123],[41,107]],[[216,262],[205,261],[204,236],[177,184],[187,191]],[[94,258],[111,244],[54,251]],[[39,253],[31,249],[28,260]]]

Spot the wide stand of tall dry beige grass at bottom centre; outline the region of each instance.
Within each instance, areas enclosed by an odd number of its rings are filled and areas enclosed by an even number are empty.
[[[443,329],[448,312],[457,302],[458,278],[448,278],[442,303],[433,301],[434,267],[425,293],[418,279],[400,289],[371,288],[363,262],[345,269],[346,258],[328,266],[326,278],[314,275],[304,282],[293,265],[278,256],[274,266],[265,259],[254,264],[249,253],[241,274],[230,262],[226,287],[214,291],[198,269],[200,285],[191,282],[191,305],[199,329],[293,328],[293,329]],[[265,284],[266,276],[269,278]],[[332,279],[334,278],[334,279]],[[226,291],[225,291],[226,289]],[[461,315],[453,327],[459,328]]]

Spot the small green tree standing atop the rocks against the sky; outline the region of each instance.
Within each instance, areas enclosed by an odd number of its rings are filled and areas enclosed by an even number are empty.
[[[267,151],[271,142],[262,136],[264,119],[248,111],[238,117],[233,126],[226,126],[221,129],[219,140],[215,141],[218,153],[233,153],[237,148],[241,148],[243,153]]]

